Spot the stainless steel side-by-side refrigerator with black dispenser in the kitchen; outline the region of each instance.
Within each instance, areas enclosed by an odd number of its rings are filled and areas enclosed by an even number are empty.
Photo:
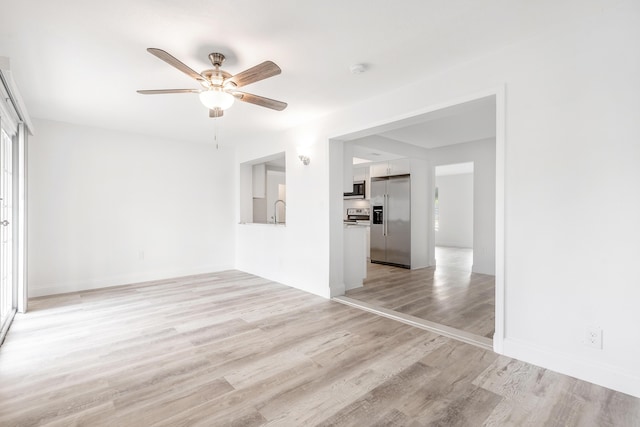
[[[411,178],[371,178],[371,262],[411,268]]]

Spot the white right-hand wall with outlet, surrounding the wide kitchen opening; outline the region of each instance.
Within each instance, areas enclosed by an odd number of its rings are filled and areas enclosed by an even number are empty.
[[[309,133],[317,142],[309,167],[287,164],[288,172],[296,168],[287,176],[291,239],[282,253],[291,269],[270,264],[263,271],[314,293],[339,291],[343,158],[330,137],[504,87],[503,351],[640,396],[639,39],[637,1],[603,3],[598,16],[577,8],[562,30],[270,135],[274,152],[280,144],[294,151]],[[249,150],[266,148],[254,143]],[[312,212],[304,220],[303,207]],[[239,236],[240,252],[257,238]],[[240,257],[239,266],[259,270],[259,259]],[[582,342],[593,324],[603,328],[602,350]]]

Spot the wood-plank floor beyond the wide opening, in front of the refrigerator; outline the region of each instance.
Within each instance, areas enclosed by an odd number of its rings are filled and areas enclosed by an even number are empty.
[[[352,299],[486,338],[495,330],[495,276],[471,273],[471,250],[436,248],[437,268],[369,263]]]

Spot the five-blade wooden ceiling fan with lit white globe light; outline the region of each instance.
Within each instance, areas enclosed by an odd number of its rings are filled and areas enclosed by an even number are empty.
[[[209,109],[209,117],[222,117],[224,110],[231,107],[235,99],[277,111],[282,111],[287,108],[286,102],[236,90],[236,88],[280,74],[282,72],[280,67],[271,61],[265,61],[241,73],[231,75],[220,69],[224,62],[224,55],[221,53],[210,53],[209,60],[213,64],[213,69],[197,73],[162,49],[150,47],[147,51],[172,67],[182,71],[189,77],[197,80],[203,89],[155,89],[139,90],[138,93],[143,95],[198,93],[200,94],[200,101]]]

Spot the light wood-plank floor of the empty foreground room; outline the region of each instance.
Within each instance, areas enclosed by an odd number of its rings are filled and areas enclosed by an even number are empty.
[[[2,426],[637,426],[639,399],[238,271],[30,302]]]

